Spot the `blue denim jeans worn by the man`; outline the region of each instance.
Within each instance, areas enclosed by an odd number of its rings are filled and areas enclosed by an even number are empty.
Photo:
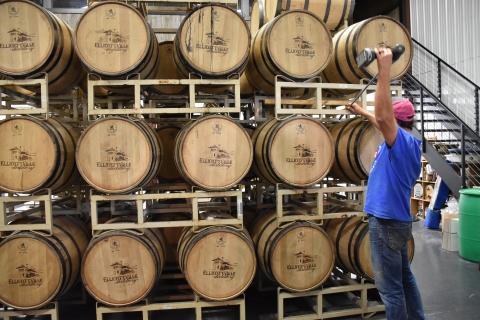
[[[412,223],[369,215],[370,255],[375,285],[388,320],[426,319],[417,282],[408,262]]]

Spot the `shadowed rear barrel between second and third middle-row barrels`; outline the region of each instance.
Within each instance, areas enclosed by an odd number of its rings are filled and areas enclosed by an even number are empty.
[[[160,181],[175,182],[181,180],[182,176],[175,166],[175,138],[182,130],[182,127],[173,123],[163,124],[155,131],[162,146],[162,162],[158,168],[157,178]]]

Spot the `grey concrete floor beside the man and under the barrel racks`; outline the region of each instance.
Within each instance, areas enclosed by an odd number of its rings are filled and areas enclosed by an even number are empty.
[[[429,320],[480,319],[480,271],[479,264],[460,258],[458,252],[442,249],[442,233],[440,230],[427,229],[423,221],[414,222],[415,257],[412,269],[416,276]],[[372,295],[374,296],[374,295]],[[257,291],[253,284],[245,293],[247,320],[277,319],[276,292]],[[335,298],[335,297],[334,297]],[[337,298],[335,298],[337,299]],[[348,300],[338,297],[340,300]],[[372,298],[374,299],[374,298]],[[349,301],[349,300],[348,300]],[[328,305],[328,301],[324,306]],[[230,320],[239,319],[238,307],[206,309],[203,319]],[[308,306],[304,300],[293,300],[285,305],[287,315],[304,314]],[[35,317],[35,319],[48,317]],[[60,306],[59,320],[96,319],[95,302],[88,299],[85,306]],[[116,313],[105,315],[106,320],[142,319],[141,313]],[[152,312],[150,319],[190,320],[195,319],[195,312],[190,310],[168,310]],[[360,315],[336,319],[362,319]],[[377,313],[370,319],[385,319],[384,313]]]

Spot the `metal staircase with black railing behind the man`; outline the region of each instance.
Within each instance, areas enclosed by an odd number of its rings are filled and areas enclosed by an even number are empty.
[[[417,41],[404,97],[417,111],[424,157],[459,197],[480,185],[479,87]]]

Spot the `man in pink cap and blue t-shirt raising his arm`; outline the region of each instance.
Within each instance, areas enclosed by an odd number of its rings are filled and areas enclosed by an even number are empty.
[[[412,236],[410,194],[421,170],[421,142],[411,134],[415,110],[408,100],[392,106],[392,51],[380,48],[375,49],[375,54],[378,65],[375,113],[357,104],[346,108],[370,120],[385,139],[372,163],[364,207],[369,215],[375,284],[388,320],[425,319],[407,246]]]

